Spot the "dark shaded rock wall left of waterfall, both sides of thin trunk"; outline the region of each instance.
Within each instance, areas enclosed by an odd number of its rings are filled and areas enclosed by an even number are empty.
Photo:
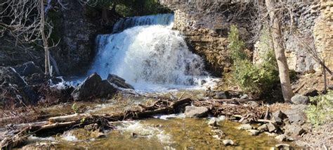
[[[58,63],[60,75],[85,73],[96,53],[96,35],[112,32],[119,15],[107,11],[105,20],[101,9],[82,5],[79,0],[63,0],[62,4],[65,8],[55,2],[47,13],[53,24],[49,46],[59,42],[51,49],[51,56]],[[0,36],[0,66],[34,61],[44,68],[44,49],[37,44],[17,44],[9,35]]]

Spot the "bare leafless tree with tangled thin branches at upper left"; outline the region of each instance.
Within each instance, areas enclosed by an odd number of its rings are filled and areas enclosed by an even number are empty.
[[[57,2],[64,6],[60,0]],[[1,0],[0,32],[1,35],[6,32],[15,37],[16,43],[34,43],[41,46],[45,51],[45,74],[52,76],[49,49],[57,44],[53,41],[52,44],[48,43],[53,25],[47,20],[46,12],[50,8],[51,0],[46,4],[48,6],[45,8],[44,0]],[[53,65],[58,72],[55,62]]]

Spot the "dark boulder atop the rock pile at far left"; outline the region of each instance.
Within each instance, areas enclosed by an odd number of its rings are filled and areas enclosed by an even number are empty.
[[[18,74],[21,76],[30,76],[34,73],[43,74],[43,71],[39,66],[35,65],[34,62],[29,61],[27,63],[23,63],[22,65],[16,65],[13,67]]]

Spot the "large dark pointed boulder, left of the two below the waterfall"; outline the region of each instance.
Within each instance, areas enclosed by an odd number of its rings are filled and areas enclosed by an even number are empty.
[[[117,88],[100,75],[93,73],[84,80],[74,91],[72,97],[75,101],[86,101],[96,98],[107,98],[117,92]]]

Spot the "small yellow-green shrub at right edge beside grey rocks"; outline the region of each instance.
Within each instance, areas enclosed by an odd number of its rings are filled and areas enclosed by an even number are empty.
[[[333,121],[333,91],[311,97],[310,101],[313,104],[305,112],[311,124],[317,126]]]

